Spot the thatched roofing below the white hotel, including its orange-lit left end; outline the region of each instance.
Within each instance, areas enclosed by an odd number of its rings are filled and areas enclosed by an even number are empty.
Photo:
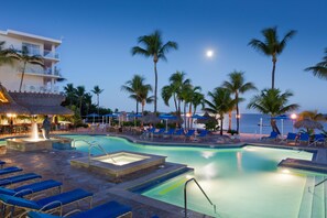
[[[61,106],[64,100],[59,94],[10,92],[0,84],[0,115],[74,115]]]

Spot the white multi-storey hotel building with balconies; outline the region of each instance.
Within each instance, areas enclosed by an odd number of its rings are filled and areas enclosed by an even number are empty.
[[[62,41],[40,35],[33,35],[13,30],[0,31],[0,42],[6,44],[2,48],[22,51],[26,46],[30,55],[40,55],[44,67],[26,64],[22,91],[29,92],[58,92],[57,79],[62,78],[57,68],[59,56],[56,48]],[[0,66],[0,83],[10,91],[19,91],[23,64],[14,61],[13,65]]]

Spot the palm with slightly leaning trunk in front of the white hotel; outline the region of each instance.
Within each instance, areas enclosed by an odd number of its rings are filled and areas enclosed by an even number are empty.
[[[19,89],[19,91],[21,92],[23,80],[24,80],[24,75],[25,75],[25,69],[26,69],[26,64],[28,63],[36,64],[36,65],[44,67],[44,63],[43,63],[42,56],[31,55],[28,46],[23,46],[21,52],[17,52],[14,57],[18,58],[21,63],[23,63],[22,77],[21,77],[20,89]]]

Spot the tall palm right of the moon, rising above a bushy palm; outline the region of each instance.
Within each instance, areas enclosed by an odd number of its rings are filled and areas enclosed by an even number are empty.
[[[277,56],[285,48],[288,40],[291,40],[296,31],[288,31],[282,41],[279,41],[277,28],[269,28],[261,31],[264,37],[264,41],[252,39],[248,45],[252,46],[254,50],[263,53],[266,56],[272,57],[273,68],[272,68],[272,85],[271,88],[275,87],[275,67],[277,62]]]

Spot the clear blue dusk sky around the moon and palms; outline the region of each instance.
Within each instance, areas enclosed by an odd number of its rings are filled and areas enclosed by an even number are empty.
[[[261,31],[277,26],[280,39],[290,30],[297,31],[277,57],[275,87],[291,90],[290,103],[303,110],[327,113],[327,80],[305,72],[320,62],[327,47],[327,1],[293,0],[15,0],[1,2],[0,30],[8,29],[42,35],[63,43],[58,47],[65,86],[85,86],[90,91],[105,89],[100,106],[121,111],[135,110],[135,102],[121,91],[121,86],[139,74],[154,86],[153,61],[132,56],[138,37],[162,32],[163,41],[178,43],[177,51],[160,61],[159,96],[176,70],[186,73],[203,94],[221,86],[233,70],[244,72],[247,81],[259,90],[271,87],[271,57],[248,45],[263,40]],[[208,58],[206,51],[212,50]],[[258,92],[242,97],[241,113]],[[96,102],[96,98],[94,98]],[[173,111],[161,98],[159,111]],[[145,110],[153,110],[146,105]]]

